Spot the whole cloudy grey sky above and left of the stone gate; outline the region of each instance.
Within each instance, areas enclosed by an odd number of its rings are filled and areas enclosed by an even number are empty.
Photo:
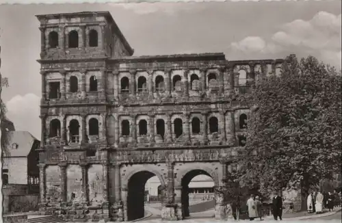
[[[135,55],[223,52],[227,60],[314,55],[341,68],[341,1],[0,5],[1,97],[17,130],[40,139],[35,14],[107,10]]]

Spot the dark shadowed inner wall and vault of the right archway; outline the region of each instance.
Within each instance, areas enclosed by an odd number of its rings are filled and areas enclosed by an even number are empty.
[[[182,186],[182,192],[181,192],[181,204],[182,204],[182,212],[183,212],[183,218],[187,218],[190,216],[190,211],[189,211],[189,183],[194,179],[194,177],[199,176],[199,175],[205,175],[209,176],[212,181],[213,177],[206,172],[205,170],[191,170],[187,172],[182,178],[181,181],[181,186]]]

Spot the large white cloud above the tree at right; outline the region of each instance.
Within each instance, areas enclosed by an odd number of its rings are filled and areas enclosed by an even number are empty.
[[[246,55],[257,52],[271,57],[285,52],[313,55],[341,68],[341,14],[317,12],[309,21],[297,19],[282,25],[269,42],[258,36],[249,36],[233,42],[231,47]]]

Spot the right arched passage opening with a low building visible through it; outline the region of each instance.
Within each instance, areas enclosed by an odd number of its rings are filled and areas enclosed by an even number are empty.
[[[215,207],[214,181],[205,170],[192,170],[182,178],[183,218]]]

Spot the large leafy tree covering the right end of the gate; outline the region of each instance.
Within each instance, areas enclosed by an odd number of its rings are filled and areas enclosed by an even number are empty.
[[[239,100],[251,106],[237,159],[246,163],[237,176],[242,185],[258,185],[265,194],[300,188],[306,198],[341,171],[341,71],[291,55],[280,75],[254,81]]]

